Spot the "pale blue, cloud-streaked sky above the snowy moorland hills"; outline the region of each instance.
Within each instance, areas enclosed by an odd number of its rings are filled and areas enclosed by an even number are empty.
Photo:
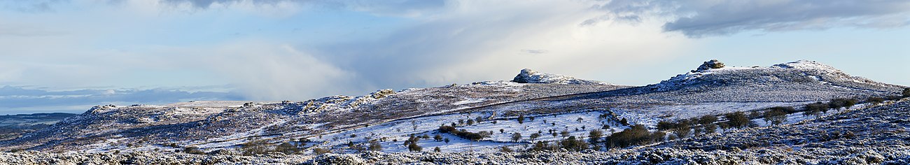
[[[910,85],[905,0],[0,0],[0,114],[306,101],[511,80],[627,85],[796,60]]]

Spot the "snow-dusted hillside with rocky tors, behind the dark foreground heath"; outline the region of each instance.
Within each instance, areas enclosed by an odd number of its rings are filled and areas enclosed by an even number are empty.
[[[637,87],[525,69],[511,82],[379,90],[303,102],[96,106],[44,130],[0,141],[0,149],[134,152],[195,147],[237,152],[245,142],[264,140],[292,143],[305,149],[304,153],[314,149],[352,153],[371,141],[383,152],[407,152],[403,142],[411,135],[439,135],[449,141],[421,139],[420,146],[423,150],[438,147],[443,152],[492,152],[503,146],[525,149],[536,141],[587,137],[596,129],[610,135],[632,124],[653,130],[658,121],[775,106],[802,109],[808,103],[834,98],[894,97],[904,88],[811,61],[769,67],[733,67],[711,61],[692,72]],[[440,132],[440,125],[490,133],[480,141],[470,141]],[[541,136],[531,140],[534,133]],[[520,134],[520,140],[513,141],[513,134]],[[300,139],[308,141],[301,143]]]

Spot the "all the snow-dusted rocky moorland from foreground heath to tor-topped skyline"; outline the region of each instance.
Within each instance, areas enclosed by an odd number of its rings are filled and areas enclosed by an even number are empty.
[[[898,100],[905,88],[811,61],[735,67],[713,60],[646,86],[525,69],[511,82],[379,90],[304,102],[96,106],[45,129],[0,141],[0,149],[17,151],[0,153],[0,161],[906,164],[910,102]],[[830,102],[838,98],[858,100],[835,107]],[[829,102],[824,113],[805,111],[815,102]],[[799,112],[787,112],[784,124],[769,126],[763,123],[768,117],[761,113],[773,107],[792,107]],[[720,118],[709,124],[731,122],[724,114],[732,112],[756,113],[748,119],[762,123],[679,137],[669,136],[678,134],[676,131],[658,130],[658,121],[703,116]],[[566,141],[570,136],[588,139],[594,130],[611,136],[630,131],[635,124],[667,135],[632,147],[610,149],[600,141],[581,151],[521,151],[532,150],[532,144],[543,141]],[[444,132],[440,125],[458,132]],[[480,133],[480,139],[468,136],[474,132]],[[542,136],[531,138],[531,134]],[[413,152],[415,145],[409,143],[419,144],[422,151]],[[258,146],[276,151],[249,154]],[[368,146],[378,151],[369,151]],[[517,152],[502,152],[506,148]]]

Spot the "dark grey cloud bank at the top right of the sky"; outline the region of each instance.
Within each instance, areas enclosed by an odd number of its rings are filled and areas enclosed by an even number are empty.
[[[594,8],[605,14],[584,24],[662,17],[664,31],[690,37],[910,24],[910,1],[904,0],[613,0]]]

